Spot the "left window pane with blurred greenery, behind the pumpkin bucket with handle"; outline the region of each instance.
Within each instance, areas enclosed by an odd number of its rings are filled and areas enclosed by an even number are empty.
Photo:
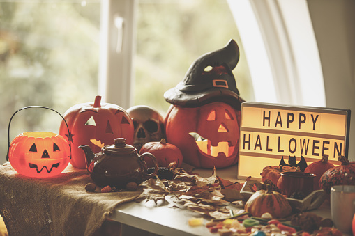
[[[63,114],[98,93],[100,1],[0,1],[0,163],[8,122],[22,107]],[[58,133],[60,116],[47,110],[17,113],[10,141],[26,131]]]

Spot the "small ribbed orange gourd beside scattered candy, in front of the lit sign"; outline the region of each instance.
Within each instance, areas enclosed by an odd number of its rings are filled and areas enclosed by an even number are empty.
[[[256,191],[247,200],[244,210],[254,217],[261,217],[269,212],[273,218],[285,218],[292,212],[292,207],[287,199],[277,191],[271,191],[270,185],[266,190]]]

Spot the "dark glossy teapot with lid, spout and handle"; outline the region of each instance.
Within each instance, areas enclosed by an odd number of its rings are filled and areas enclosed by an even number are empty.
[[[89,145],[80,145],[85,152],[86,168],[91,179],[100,187],[107,185],[125,188],[129,182],[141,184],[144,180],[156,175],[158,164],[156,157],[149,152],[137,154],[137,149],[126,144],[126,139],[114,140],[114,144],[101,148],[101,152],[94,154]],[[146,173],[144,157],[153,159],[155,171]]]

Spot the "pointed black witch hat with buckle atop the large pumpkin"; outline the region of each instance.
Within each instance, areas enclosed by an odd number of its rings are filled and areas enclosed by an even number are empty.
[[[234,40],[214,52],[197,58],[185,78],[164,93],[167,102],[181,107],[199,107],[210,102],[225,102],[240,110],[239,96],[232,70],[239,61],[239,47]]]

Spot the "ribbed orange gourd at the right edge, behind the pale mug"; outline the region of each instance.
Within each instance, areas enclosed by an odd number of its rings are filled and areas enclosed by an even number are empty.
[[[342,164],[328,169],[319,180],[320,189],[324,189],[328,196],[335,185],[355,185],[355,163],[350,163],[344,156],[339,160]]]

